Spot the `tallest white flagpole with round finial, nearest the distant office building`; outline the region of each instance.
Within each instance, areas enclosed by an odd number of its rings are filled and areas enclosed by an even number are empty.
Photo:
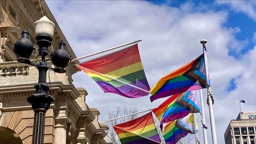
[[[211,93],[211,87],[209,84],[209,73],[208,73],[208,65],[207,65],[207,54],[206,54],[206,46],[207,43],[206,39],[201,40],[201,44],[203,45],[203,52],[204,52],[204,66],[205,66],[205,77],[206,77],[206,86],[207,86],[207,104],[209,106],[209,113],[210,113],[210,122],[211,122],[211,131],[212,131],[212,143],[217,144],[217,135],[215,129],[215,121],[213,115],[213,96]]]

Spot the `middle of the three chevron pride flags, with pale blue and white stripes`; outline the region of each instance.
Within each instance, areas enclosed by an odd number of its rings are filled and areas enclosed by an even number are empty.
[[[174,94],[160,106],[153,109],[153,113],[158,118],[160,124],[185,117],[189,113],[199,113],[200,111],[198,91]]]

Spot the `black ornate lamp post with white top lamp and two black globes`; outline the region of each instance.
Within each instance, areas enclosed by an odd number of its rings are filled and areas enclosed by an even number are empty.
[[[48,47],[51,46],[54,28],[54,23],[45,16],[35,22],[36,44],[39,46],[38,55],[36,57],[38,63],[29,60],[34,54],[35,48],[29,39],[27,30],[22,31],[21,38],[13,45],[14,52],[18,56],[18,61],[35,66],[39,71],[38,83],[34,86],[36,93],[30,95],[27,99],[35,112],[32,138],[33,144],[44,143],[45,113],[49,109],[51,103],[55,101],[52,95],[47,94],[49,86],[46,84],[46,72],[50,69],[57,73],[66,73],[64,68],[70,61],[69,54],[66,51],[66,44],[63,42],[60,42],[58,50],[52,52],[51,55],[48,54]],[[50,56],[51,61],[56,68],[47,66],[47,61],[49,60],[47,55]]]

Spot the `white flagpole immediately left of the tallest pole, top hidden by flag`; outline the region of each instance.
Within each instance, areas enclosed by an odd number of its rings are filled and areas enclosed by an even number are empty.
[[[204,117],[204,105],[203,105],[203,90],[199,90],[200,91],[200,103],[201,103],[201,123],[203,125],[203,134],[204,134],[204,144],[207,144],[208,141],[207,141],[207,133],[206,133],[206,129],[207,129],[207,126],[205,124],[205,117]]]

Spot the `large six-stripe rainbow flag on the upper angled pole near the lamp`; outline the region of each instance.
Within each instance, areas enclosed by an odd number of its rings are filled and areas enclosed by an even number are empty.
[[[146,91],[150,90],[142,67],[138,44],[80,63],[77,67],[92,77],[106,93],[116,93],[127,98],[138,98],[148,95],[148,92],[135,87]]]

